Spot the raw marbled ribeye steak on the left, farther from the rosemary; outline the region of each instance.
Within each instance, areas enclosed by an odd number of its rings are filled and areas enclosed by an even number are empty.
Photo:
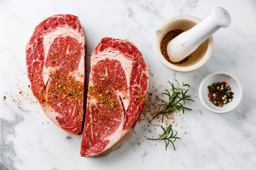
[[[85,37],[78,17],[46,18],[26,45],[31,89],[45,114],[69,134],[79,135],[84,115]]]

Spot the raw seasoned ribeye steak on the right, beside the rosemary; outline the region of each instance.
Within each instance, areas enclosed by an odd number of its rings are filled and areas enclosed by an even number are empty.
[[[148,89],[148,68],[136,46],[103,38],[93,51],[81,156],[105,156],[134,132]]]

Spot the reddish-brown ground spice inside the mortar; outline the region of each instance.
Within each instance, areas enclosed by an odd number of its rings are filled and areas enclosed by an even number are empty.
[[[179,61],[179,62],[172,62],[169,59],[168,53],[167,53],[167,45],[168,43],[174,39],[175,37],[177,37],[178,35],[180,35],[181,33],[183,33],[184,31],[181,29],[175,29],[172,31],[167,32],[167,34],[163,37],[161,44],[160,44],[160,49],[161,49],[161,53],[163,54],[163,57],[170,63],[172,64],[183,64],[184,62],[187,62],[189,60],[190,57],[192,57],[191,54],[189,54],[188,57],[184,58],[183,60]]]

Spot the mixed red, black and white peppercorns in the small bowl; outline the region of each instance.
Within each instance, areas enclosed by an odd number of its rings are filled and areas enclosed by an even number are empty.
[[[208,86],[210,101],[215,105],[222,107],[233,99],[233,92],[226,82],[217,82]]]

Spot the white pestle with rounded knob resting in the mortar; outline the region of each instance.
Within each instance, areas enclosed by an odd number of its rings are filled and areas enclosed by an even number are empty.
[[[179,62],[194,52],[221,27],[230,26],[230,14],[221,7],[212,9],[212,14],[188,31],[183,32],[167,45],[167,53],[172,62]]]

